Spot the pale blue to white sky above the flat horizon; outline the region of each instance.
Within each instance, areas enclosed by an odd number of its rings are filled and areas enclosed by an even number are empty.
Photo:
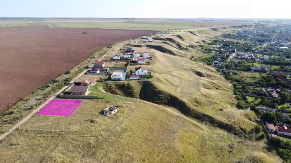
[[[290,0],[0,0],[0,17],[291,18]]]

